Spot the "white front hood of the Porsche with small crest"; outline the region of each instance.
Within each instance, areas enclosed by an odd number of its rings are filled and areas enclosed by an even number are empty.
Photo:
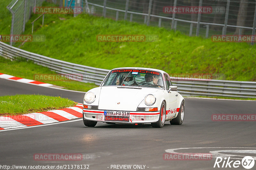
[[[145,96],[159,89],[106,86],[100,90],[100,110],[136,111]],[[118,104],[119,103],[119,104]]]

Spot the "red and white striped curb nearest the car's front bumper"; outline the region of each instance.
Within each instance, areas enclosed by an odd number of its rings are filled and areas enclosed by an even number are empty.
[[[29,113],[17,116],[0,116],[0,130],[56,123],[83,117],[83,104],[60,110]]]

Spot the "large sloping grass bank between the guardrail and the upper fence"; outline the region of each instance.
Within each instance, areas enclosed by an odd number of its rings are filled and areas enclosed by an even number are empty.
[[[89,15],[60,20],[36,31],[42,43],[22,49],[86,66],[151,67],[169,74],[224,74],[226,80],[255,81],[256,47],[247,43],[212,42],[164,28]],[[98,42],[99,34],[156,34],[156,42]]]

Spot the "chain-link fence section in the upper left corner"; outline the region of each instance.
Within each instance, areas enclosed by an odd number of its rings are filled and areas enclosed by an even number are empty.
[[[25,31],[26,22],[28,22],[33,8],[42,6],[44,0],[13,0],[7,9],[12,13],[11,36],[19,35]],[[14,42],[10,39],[10,45]]]

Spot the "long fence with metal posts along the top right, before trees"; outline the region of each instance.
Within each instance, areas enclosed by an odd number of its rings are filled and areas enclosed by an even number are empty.
[[[166,27],[190,36],[255,34],[255,0],[84,0],[84,3],[94,6],[96,15]],[[211,10],[196,12],[196,7]],[[186,8],[189,10],[182,11]]]

